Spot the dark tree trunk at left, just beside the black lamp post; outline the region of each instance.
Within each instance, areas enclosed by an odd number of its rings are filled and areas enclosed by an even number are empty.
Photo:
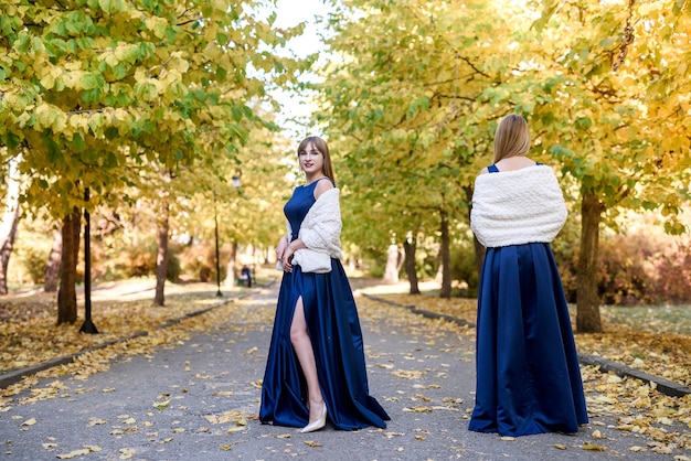
[[[63,221],[63,251],[60,258],[60,289],[57,290],[57,324],[77,320],[77,262],[79,259],[79,210]]]

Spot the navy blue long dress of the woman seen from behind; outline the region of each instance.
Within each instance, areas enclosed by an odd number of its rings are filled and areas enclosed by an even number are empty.
[[[491,165],[490,173],[497,172]],[[564,288],[545,243],[487,248],[468,429],[528,436],[588,421]]]

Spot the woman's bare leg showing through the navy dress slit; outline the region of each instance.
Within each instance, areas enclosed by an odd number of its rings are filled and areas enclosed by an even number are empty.
[[[293,314],[293,323],[290,324],[290,342],[300,362],[300,367],[302,367],[305,380],[307,380],[309,422],[313,422],[321,416],[325,403],[321,396],[321,389],[319,388],[319,378],[317,377],[315,351],[312,350],[312,343],[307,333],[302,297],[298,298],[295,304],[295,313]]]

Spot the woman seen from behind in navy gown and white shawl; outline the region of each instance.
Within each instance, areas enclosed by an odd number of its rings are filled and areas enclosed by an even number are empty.
[[[468,429],[528,436],[588,421],[568,309],[550,243],[566,221],[552,168],[527,157],[525,119],[504,117],[475,182],[470,224],[487,248]]]

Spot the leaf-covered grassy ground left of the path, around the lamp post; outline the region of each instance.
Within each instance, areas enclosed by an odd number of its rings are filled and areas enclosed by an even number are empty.
[[[153,307],[153,280],[104,285],[92,293],[92,319],[98,334],[79,333],[83,296],[74,324],[56,325],[56,293],[41,290],[0,298],[0,373],[108,343],[139,332],[150,333],[217,302],[209,283],[167,287],[166,307]],[[236,289],[237,293],[237,289]]]

